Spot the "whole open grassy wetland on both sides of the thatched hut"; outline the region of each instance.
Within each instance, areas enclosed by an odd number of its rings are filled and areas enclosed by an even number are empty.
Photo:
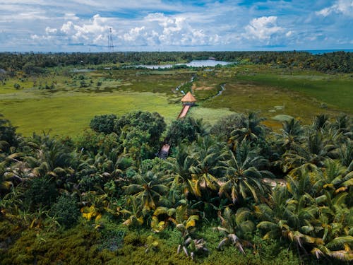
[[[225,90],[217,95],[222,84]],[[0,85],[0,113],[25,136],[49,130],[75,136],[97,114],[131,110],[159,112],[171,122],[181,110],[177,86],[193,90],[198,107],[190,114],[210,124],[232,112],[260,112],[274,128],[281,126],[275,117],[282,114],[309,123],[316,114],[353,113],[352,75],[257,65],[199,71],[56,69],[47,76],[18,76]]]

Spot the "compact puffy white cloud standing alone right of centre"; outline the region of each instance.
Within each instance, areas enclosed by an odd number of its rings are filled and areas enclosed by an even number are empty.
[[[277,26],[277,16],[263,16],[253,18],[245,27],[245,37],[257,40],[270,40],[275,33],[280,33],[283,28]]]

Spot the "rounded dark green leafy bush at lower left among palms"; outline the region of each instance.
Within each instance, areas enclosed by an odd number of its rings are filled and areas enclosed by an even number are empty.
[[[61,195],[50,209],[50,215],[56,216],[64,228],[72,228],[80,216],[77,200],[71,196]]]

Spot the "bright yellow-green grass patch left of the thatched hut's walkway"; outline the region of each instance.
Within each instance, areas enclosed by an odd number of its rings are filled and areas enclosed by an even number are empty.
[[[171,122],[179,114],[181,105],[168,104],[167,97],[153,93],[0,100],[0,113],[18,126],[18,132],[24,136],[49,130],[54,135],[76,136],[88,127],[95,115],[121,115],[133,110],[158,112]]]

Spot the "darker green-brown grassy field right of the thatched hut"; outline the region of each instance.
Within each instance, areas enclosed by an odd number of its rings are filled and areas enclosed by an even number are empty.
[[[222,95],[214,95],[225,84]],[[269,66],[236,66],[204,72],[193,86],[203,107],[227,108],[234,112],[260,112],[268,118],[265,124],[280,127],[277,115],[286,114],[311,122],[314,115],[326,113],[335,117],[353,113],[353,78],[316,72],[270,69]]]

